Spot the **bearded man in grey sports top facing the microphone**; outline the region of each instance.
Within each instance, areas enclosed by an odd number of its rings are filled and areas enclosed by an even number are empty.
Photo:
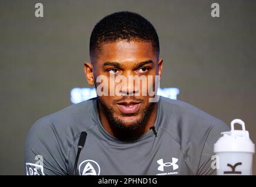
[[[87,82],[98,96],[33,125],[25,174],[73,175],[76,166],[78,175],[215,174],[213,144],[228,127],[187,103],[150,94],[162,68],[159,38],[148,20],[132,12],[100,20],[85,63]],[[130,77],[135,78],[126,81]],[[136,83],[141,77],[149,84]],[[87,137],[75,163],[82,131]]]

